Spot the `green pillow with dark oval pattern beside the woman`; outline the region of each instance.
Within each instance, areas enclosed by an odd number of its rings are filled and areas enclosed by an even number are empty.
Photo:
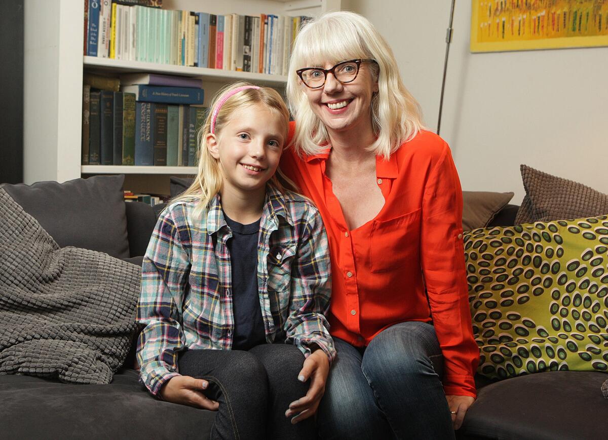
[[[465,235],[478,373],[608,370],[608,216]]]

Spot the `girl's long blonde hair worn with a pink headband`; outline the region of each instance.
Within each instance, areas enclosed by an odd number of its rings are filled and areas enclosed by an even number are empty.
[[[246,82],[238,82],[227,84],[213,98],[213,102],[207,111],[205,124],[197,133],[199,151],[198,151],[198,172],[192,185],[176,198],[172,199],[169,204],[178,201],[193,201],[198,200],[195,208],[195,215],[201,215],[209,206],[209,202],[219,193],[222,187],[222,173],[218,165],[218,160],[215,159],[207,148],[207,135],[211,132],[213,109],[216,108],[218,102],[229,94],[233,89],[244,86],[253,86]],[[289,111],[285,105],[285,101],[275,89],[269,87],[260,87],[255,89],[244,89],[230,96],[219,109],[215,119],[215,134],[219,136],[222,129],[229,122],[232,113],[244,106],[261,104],[268,108],[272,113],[276,114],[283,121],[285,126],[285,142],[287,141]],[[285,147],[285,145],[283,145]],[[278,176],[277,176],[278,174]],[[285,187],[292,187],[291,180],[287,179],[277,168],[277,173],[271,177],[271,182],[281,192],[285,192]]]

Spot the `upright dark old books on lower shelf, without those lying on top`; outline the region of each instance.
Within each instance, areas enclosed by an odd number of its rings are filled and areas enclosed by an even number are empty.
[[[83,165],[196,166],[206,108],[83,86]]]

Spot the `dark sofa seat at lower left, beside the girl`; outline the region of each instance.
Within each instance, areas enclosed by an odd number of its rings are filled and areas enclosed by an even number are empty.
[[[208,439],[215,413],[154,399],[123,369],[109,385],[0,374],[2,431],[15,439]]]

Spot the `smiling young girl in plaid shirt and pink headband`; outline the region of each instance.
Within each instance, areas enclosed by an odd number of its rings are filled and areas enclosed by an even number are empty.
[[[211,438],[316,436],[309,417],[335,356],[330,257],[319,212],[275,174],[288,120],[274,89],[219,92],[198,176],[143,258],[140,380],[163,400],[218,411]]]

